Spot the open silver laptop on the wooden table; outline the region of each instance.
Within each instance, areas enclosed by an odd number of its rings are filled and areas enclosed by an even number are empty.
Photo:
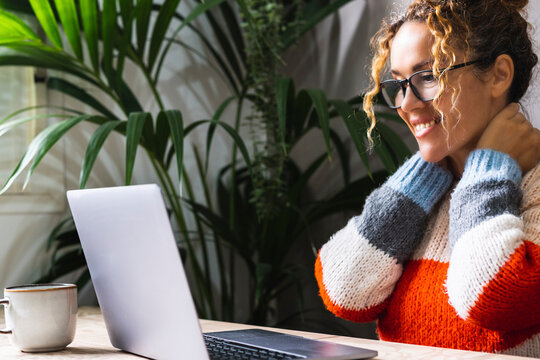
[[[265,353],[284,359],[377,355],[259,329],[203,337],[160,188],[72,190],[67,197],[114,347],[153,359],[229,359],[233,353],[238,359],[262,359]]]

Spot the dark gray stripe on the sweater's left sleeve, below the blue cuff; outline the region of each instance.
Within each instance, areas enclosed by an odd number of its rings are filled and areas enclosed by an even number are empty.
[[[422,239],[426,221],[427,214],[420,205],[387,186],[373,191],[362,215],[355,218],[358,232],[400,263]]]

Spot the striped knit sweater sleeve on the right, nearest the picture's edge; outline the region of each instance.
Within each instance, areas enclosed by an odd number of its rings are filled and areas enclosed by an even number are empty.
[[[450,201],[450,303],[492,330],[540,324],[540,179],[521,185],[510,156],[475,150]]]

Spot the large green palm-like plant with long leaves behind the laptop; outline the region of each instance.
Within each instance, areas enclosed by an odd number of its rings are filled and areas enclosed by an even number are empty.
[[[347,2],[250,3],[237,0],[243,19],[241,23],[233,6],[223,0],[196,3],[187,16],[177,12],[179,0],[165,0],[162,5],[151,0],[105,1],[102,9],[95,0],[55,0],[55,6],[48,0],[31,0],[29,3],[4,0],[2,5],[5,9],[34,13],[48,42],[42,41],[12,13],[0,11],[0,45],[9,50],[0,55],[0,65],[31,65],[69,74],[82,81],[85,87],[100,89],[120,112],[109,111],[106,104],[69,78],[50,77],[47,81],[50,89],[85,103],[95,113],[82,114],[63,109],[61,114],[49,114],[61,120],[53,122],[33,140],[3,189],[7,189],[29,165],[28,180],[43,156],[69,129],[80,122],[91,122],[98,127],[82,161],[79,185],[83,188],[109,134],[125,135],[125,183],[131,182],[137,147],[141,147],[160,179],[172,221],[180,228],[179,245],[185,250],[186,266],[194,279],[199,315],[267,323],[276,296],[290,286],[301,285],[296,277],[297,269],[285,260],[305,229],[328,214],[361,206],[365,194],[383,176],[369,171],[363,136],[366,119],[357,109],[359,99],[329,101],[321,90],[296,92],[292,80],[283,77],[280,70],[280,54],[301,34]],[[265,24],[269,14],[273,14],[274,21]],[[157,18],[153,27],[150,26],[150,16]],[[195,27],[193,20],[198,16],[207,19],[209,28]],[[271,26],[272,36],[264,36],[268,34],[265,26]],[[179,110],[164,108],[158,90],[160,72],[171,46],[179,45],[204,57],[179,37],[179,32],[186,27],[206,45],[211,55],[211,59],[206,60],[231,89],[230,96],[217,108],[212,119],[188,125],[184,124]],[[64,46],[59,35],[62,30],[69,48]],[[212,45],[212,37],[218,40],[218,46]],[[83,55],[84,45],[88,57]],[[260,62],[261,56],[271,59],[266,59],[268,63]],[[142,108],[125,81],[126,62],[131,62],[144,75],[158,103],[159,110],[155,116]],[[246,103],[253,104],[254,110],[250,117],[243,118]],[[233,125],[228,125],[221,118],[224,110],[232,104],[236,105],[236,116]],[[33,117],[21,117],[23,112],[5,117],[0,122],[0,133],[33,120]],[[370,177],[349,181],[349,155],[331,127],[331,121],[337,119],[345,122]],[[246,121],[254,129],[262,128],[266,132],[263,143],[255,142],[251,153],[239,135],[242,123]],[[203,125],[208,126],[206,158],[199,156],[200,149],[194,149],[199,169],[196,180],[204,189],[200,199],[192,190],[193,175],[188,176],[183,171],[183,149],[184,139]],[[216,206],[206,169],[218,127],[232,137],[233,148],[231,162],[222,168],[215,183]],[[320,131],[325,151],[307,169],[301,170],[290,157],[290,151],[311,131]],[[408,155],[408,150],[383,123],[378,126],[378,131],[380,136],[376,137],[375,151],[386,169],[393,171]],[[332,149],[340,159],[344,188],[329,199],[313,202],[307,194],[309,179],[331,156]],[[170,172],[174,160],[180,186],[185,189],[184,197],[180,197],[179,186]],[[190,206],[194,215],[193,229],[188,228],[182,202]],[[53,278],[81,269],[78,283],[82,285],[89,280],[76,232],[69,219],[54,229],[49,245],[54,249],[54,255],[51,271],[46,277]],[[219,268],[217,279],[211,275],[214,266],[212,252]],[[238,303],[235,279],[239,263],[248,269],[249,319],[239,319],[235,314]],[[213,288],[218,289],[219,296],[212,296]]]

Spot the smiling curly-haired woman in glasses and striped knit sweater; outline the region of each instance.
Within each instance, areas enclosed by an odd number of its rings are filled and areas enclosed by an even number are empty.
[[[537,62],[526,4],[417,0],[372,42],[364,109],[374,125],[381,91],[419,152],[315,272],[327,308],[377,319],[383,340],[540,356],[540,134],[516,104]]]

